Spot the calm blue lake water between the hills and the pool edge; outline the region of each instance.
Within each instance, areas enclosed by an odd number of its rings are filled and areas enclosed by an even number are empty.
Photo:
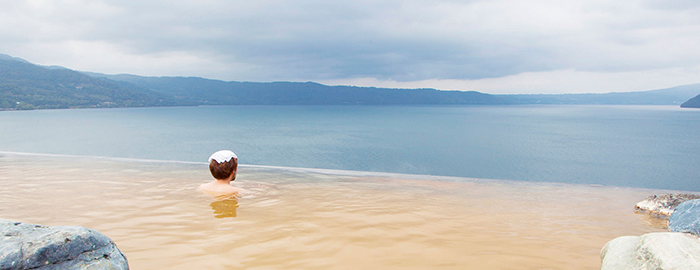
[[[700,110],[203,106],[0,112],[0,151],[700,191]]]

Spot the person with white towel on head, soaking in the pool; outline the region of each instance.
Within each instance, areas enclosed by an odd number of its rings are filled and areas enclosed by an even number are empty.
[[[238,157],[229,150],[221,150],[209,157],[209,171],[214,176],[214,181],[201,184],[199,189],[213,195],[240,195],[246,190],[231,185],[231,181],[236,180],[238,170]]]

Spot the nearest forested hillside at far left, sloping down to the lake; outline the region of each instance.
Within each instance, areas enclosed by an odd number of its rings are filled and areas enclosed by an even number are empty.
[[[63,68],[0,59],[0,109],[173,105],[166,95],[131,89]]]

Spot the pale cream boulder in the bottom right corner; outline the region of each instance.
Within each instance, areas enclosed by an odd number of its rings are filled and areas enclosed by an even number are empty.
[[[601,270],[700,269],[700,239],[675,232],[622,236],[605,244],[600,256]]]

